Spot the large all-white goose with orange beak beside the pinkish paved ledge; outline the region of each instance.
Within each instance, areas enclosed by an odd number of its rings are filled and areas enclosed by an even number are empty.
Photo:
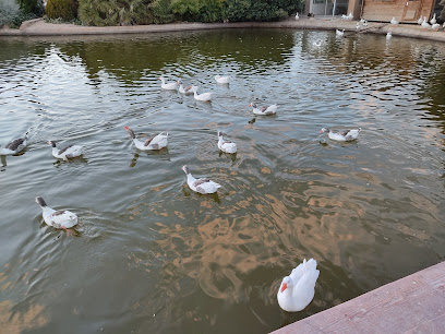
[[[304,259],[289,276],[282,278],[277,294],[279,307],[287,312],[303,310],[314,298],[318,275],[316,261],[311,259],[306,262]]]

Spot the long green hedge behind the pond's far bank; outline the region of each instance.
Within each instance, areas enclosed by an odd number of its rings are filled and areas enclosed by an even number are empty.
[[[277,21],[301,11],[302,0],[80,0],[86,25]]]

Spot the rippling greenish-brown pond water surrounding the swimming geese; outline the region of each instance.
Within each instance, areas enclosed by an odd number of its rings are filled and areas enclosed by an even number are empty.
[[[443,261],[444,60],[431,41],[320,31],[1,38],[0,144],[31,129],[0,168],[3,329],[267,333]],[[168,147],[136,150],[125,126]],[[84,154],[56,159],[49,140]],[[218,193],[192,192],[183,165]],[[79,215],[74,232],[44,223],[38,195]],[[287,313],[277,289],[310,258],[315,297]]]

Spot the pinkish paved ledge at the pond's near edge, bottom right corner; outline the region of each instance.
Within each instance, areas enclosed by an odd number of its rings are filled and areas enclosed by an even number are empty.
[[[445,262],[273,333],[445,333]]]

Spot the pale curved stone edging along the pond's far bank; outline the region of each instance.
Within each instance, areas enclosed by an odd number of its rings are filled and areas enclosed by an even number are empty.
[[[352,34],[386,34],[392,32],[393,36],[416,37],[445,41],[443,27],[438,32],[422,28],[417,24],[374,23],[356,29],[357,21],[347,21],[337,17],[300,19],[280,22],[240,22],[240,23],[179,23],[179,24],[152,24],[132,26],[82,26],[74,24],[46,23],[43,19],[24,22],[20,29],[2,28],[0,36],[67,36],[67,35],[115,35],[115,34],[146,34],[158,32],[183,32],[197,29],[219,28],[299,28],[299,29],[345,29],[345,36]]]

